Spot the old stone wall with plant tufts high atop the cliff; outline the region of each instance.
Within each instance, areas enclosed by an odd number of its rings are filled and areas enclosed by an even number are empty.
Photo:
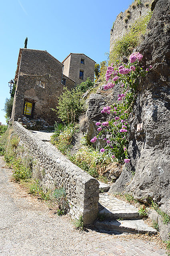
[[[114,26],[110,30],[110,52],[112,51],[114,41],[124,36],[136,20],[148,13],[153,0],[140,0],[141,4],[137,4],[137,2],[134,1],[125,12],[120,12],[116,17]],[[127,16],[129,18],[125,22]]]

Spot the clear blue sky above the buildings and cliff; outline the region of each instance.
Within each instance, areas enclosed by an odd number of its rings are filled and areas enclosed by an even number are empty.
[[[6,123],[4,101],[10,98],[19,48],[47,50],[62,61],[84,53],[97,63],[109,52],[110,29],[132,0],[6,0],[0,8],[0,122]]]

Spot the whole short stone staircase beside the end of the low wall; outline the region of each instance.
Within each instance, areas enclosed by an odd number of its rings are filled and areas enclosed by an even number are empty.
[[[149,227],[142,220],[138,213],[138,208],[115,198],[107,192],[100,193],[98,208],[99,218],[94,223],[94,226],[100,232],[109,234],[157,234],[154,228]]]

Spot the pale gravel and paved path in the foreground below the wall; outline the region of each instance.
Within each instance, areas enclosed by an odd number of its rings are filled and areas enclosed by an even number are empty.
[[[76,230],[17,183],[0,157],[0,256],[166,256],[155,242]],[[126,239],[126,240],[125,240]]]

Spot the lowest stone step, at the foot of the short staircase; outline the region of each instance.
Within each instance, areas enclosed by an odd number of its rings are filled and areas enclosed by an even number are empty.
[[[108,231],[110,234],[132,233],[132,234],[157,234],[154,228],[149,227],[143,220],[96,220],[94,226],[100,231]]]

